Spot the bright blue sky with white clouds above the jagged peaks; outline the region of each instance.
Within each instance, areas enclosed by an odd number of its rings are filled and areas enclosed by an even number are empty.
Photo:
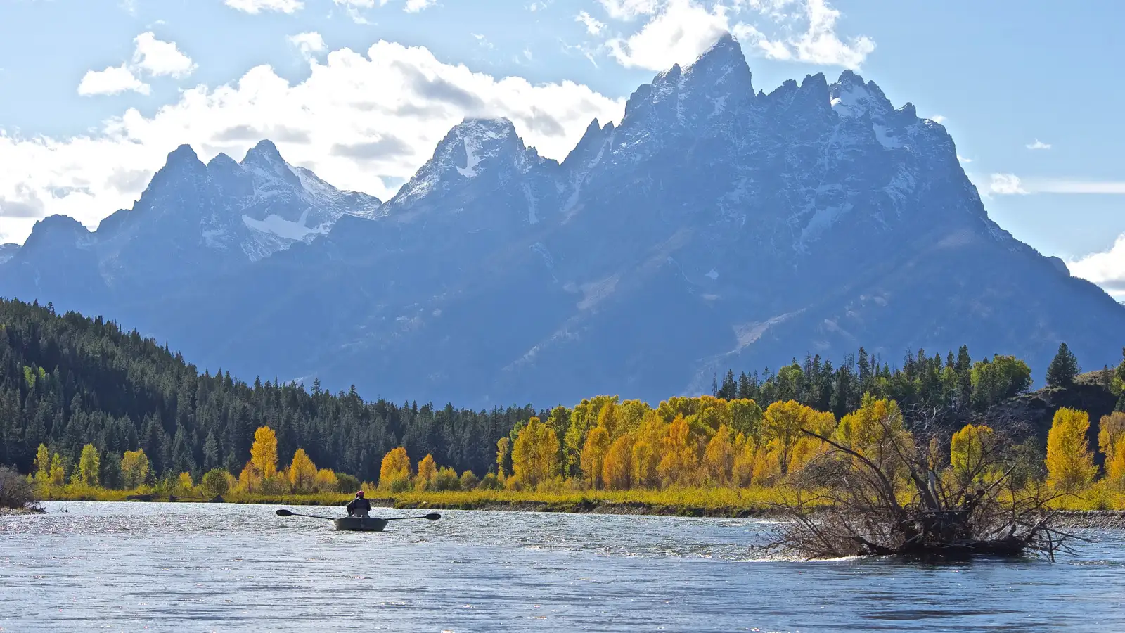
[[[191,143],[380,197],[466,115],[562,158],[723,29],[754,83],[855,68],[940,121],[993,219],[1125,296],[1112,0],[0,0],[0,238],[130,206]]]

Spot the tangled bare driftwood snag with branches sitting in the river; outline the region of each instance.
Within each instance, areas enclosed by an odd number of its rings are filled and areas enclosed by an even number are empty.
[[[947,437],[901,419],[878,421],[862,446],[802,429],[825,449],[790,473],[790,520],[773,545],[809,559],[850,555],[961,558],[1037,553],[1054,560],[1076,538],[1055,527],[1059,497],[1011,483],[1011,443],[994,434],[975,461],[953,473]]]

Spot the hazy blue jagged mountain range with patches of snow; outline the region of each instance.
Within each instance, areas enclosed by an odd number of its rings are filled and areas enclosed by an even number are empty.
[[[0,294],[199,365],[470,407],[702,392],[727,368],[968,344],[1116,364],[1125,307],[992,222],[945,128],[845,71],[755,91],[724,36],[558,162],[466,119],[385,203],[285,162],[169,154],[97,231],[53,216]]]

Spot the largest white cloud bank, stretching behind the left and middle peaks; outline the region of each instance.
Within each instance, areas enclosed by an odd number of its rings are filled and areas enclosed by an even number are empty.
[[[620,121],[624,107],[574,82],[500,79],[388,42],[366,54],[328,52],[309,69],[290,83],[256,66],[228,84],[183,90],[152,115],[129,108],[87,135],[0,130],[0,233],[22,241],[36,217],[56,213],[94,226],[132,206],[181,143],[202,160],[218,152],[237,159],[269,137],[290,162],[386,199],[466,116],[506,116],[528,144],[562,159],[592,118]]]

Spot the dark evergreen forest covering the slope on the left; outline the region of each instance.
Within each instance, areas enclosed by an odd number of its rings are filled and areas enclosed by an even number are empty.
[[[333,394],[318,382],[306,389],[200,374],[166,345],[100,316],[56,315],[50,304],[0,301],[0,464],[21,472],[40,443],[71,464],[89,443],[107,469],[143,448],[158,475],[237,473],[254,430],[270,426],[281,463],[302,447],[321,467],[374,481],[382,455],[405,446],[412,460],[429,453],[483,474],[500,437],[521,420],[546,418],[531,407],[364,402],[354,387]]]

